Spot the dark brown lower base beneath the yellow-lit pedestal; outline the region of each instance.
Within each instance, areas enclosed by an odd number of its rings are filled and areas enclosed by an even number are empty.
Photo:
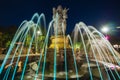
[[[56,62],[56,69],[57,72],[65,71],[65,61],[66,61],[66,67],[67,71],[75,71],[74,67],[74,58],[72,54],[72,49],[66,48],[66,53],[64,49],[60,49],[58,53],[56,53],[56,56],[54,55],[55,49],[49,48],[47,50],[47,56],[46,59],[49,62],[49,70],[50,72],[54,71],[54,62]],[[66,57],[65,57],[66,54]],[[56,61],[55,60],[56,57]],[[66,59],[66,60],[65,60]]]

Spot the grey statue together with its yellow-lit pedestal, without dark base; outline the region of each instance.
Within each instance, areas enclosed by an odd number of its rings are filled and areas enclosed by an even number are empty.
[[[54,35],[51,36],[51,42],[49,48],[57,48],[58,50],[66,46],[69,48],[68,38],[65,35],[66,32],[66,19],[68,9],[63,9],[61,6],[53,8],[53,27]]]

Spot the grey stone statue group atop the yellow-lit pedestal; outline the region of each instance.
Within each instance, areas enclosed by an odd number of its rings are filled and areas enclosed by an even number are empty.
[[[66,31],[66,19],[68,9],[63,9],[62,6],[58,6],[57,9],[53,8],[53,19],[54,19],[54,34],[58,35],[65,34]]]

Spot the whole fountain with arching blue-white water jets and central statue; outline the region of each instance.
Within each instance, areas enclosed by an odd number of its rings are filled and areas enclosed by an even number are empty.
[[[120,79],[120,54],[103,34],[79,22],[72,36],[66,35],[67,11],[53,8],[47,32],[44,14],[35,13],[21,23],[1,59],[0,79]]]

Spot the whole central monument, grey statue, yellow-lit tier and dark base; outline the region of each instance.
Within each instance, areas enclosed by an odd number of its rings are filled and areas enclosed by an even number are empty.
[[[72,55],[72,49],[69,44],[69,39],[66,36],[66,19],[67,19],[67,11],[68,9],[63,9],[61,6],[58,8],[53,8],[53,28],[54,34],[50,37],[51,44],[47,51],[47,59],[49,62],[49,69],[52,70],[54,67],[54,52],[56,50],[56,67],[57,71],[65,71],[65,66],[67,70],[73,70],[74,59]],[[66,55],[66,56],[65,56]],[[65,58],[66,57],[66,58]],[[65,60],[66,59],[66,60]],[[66,62],[67,61],[67,62]],[[65,62],[67,63],[66,65]],[[53,71],[53,70],[52,70]]]

